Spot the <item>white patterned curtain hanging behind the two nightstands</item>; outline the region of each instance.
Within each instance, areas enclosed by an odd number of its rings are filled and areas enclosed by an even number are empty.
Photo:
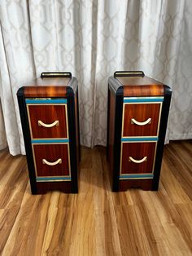
[[[192,139],[190,0],[0,2],[0,149],[24,154],[16,92],[43,71],[79,82],[81,144],[106,144],[107,78],[143,70],[172,87],[168,139]]]

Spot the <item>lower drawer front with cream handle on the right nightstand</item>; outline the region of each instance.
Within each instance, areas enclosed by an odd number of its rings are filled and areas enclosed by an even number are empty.
[[[153,178],[155,150],[155,142],[121,143],[121,178],[124,174],[133,174],[129,178],[137,178],[134,174],[140,174],[141,178],[150,174],[146,178]]]

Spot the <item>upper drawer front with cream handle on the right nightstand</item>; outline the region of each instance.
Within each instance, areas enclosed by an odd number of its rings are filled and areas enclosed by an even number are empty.
[[[161,103],[124,104],[122,137],[158,136]]]

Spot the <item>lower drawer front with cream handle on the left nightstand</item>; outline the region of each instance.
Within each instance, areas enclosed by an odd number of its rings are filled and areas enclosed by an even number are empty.
[[[37,177],[70,175],[68,143],[33,144]]]

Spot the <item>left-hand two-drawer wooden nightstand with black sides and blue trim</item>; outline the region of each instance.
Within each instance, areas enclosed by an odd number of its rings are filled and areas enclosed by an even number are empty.
[[[41,73],[17,96],[32,193],[78,192],[76,78],[71,73]]]

